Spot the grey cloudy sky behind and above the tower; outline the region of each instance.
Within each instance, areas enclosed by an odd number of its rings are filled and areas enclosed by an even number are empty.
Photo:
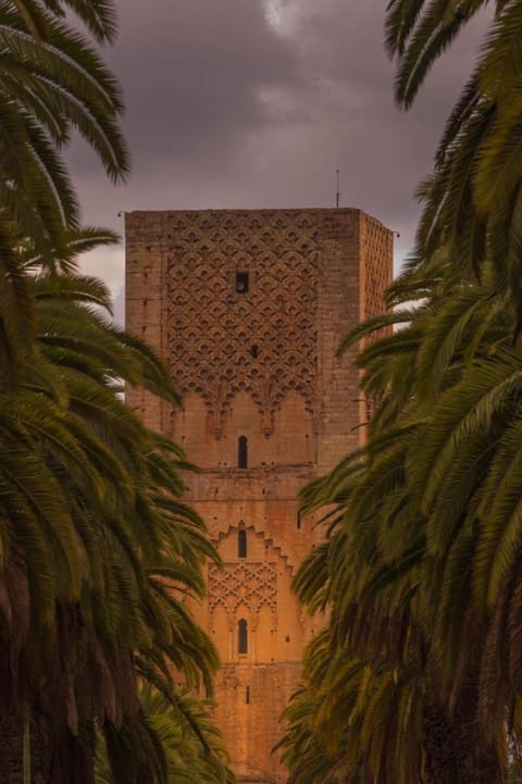
[[[94,155],[71,152],[84,222],[123,231],[146,209],[358,207],[411,246],[413,191],[476,54],[478,20],[437,64],[414,109],[393,101],[386,0],[120,0],[107,59],[122,83],[133,155],[113,187]],[[123,248],[89,273],[123,301]]]

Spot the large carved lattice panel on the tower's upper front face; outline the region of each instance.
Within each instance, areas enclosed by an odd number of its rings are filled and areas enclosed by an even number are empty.
[[[313,213],[183,213],[166,227],[170,364],[181,393],[197,391],[219,437],[234,396],[256,401],[270,435],[284,396],[313,412],[318,242]],[[236,273],[249,275],[236,291]],[[202,358],[207,357],[208,362]]]

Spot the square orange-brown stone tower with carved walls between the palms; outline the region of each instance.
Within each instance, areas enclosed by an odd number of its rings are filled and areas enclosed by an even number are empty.
[[[284,782],[271,756],[314,621],[290,592],[320,534],[301,487],[363,437],[366,408],[341,337],[382,312],[393,235],[351,209],[132,212],[127,328],[159,349],[183,409],[129,406],[201,472],[188,501],[224,562],[199,621],[217,646],[217,723],[240,781]]]

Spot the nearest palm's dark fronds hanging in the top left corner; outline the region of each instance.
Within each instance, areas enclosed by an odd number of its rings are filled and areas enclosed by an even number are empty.
[[[72,26],[76,14],[97,41],[115,34],[110,0],[7,0],[0,4],[0,352],[3,384],[30,350],[35,313],[17,248],[30,240],[54,263],[71,260],[69,232],[79,206],[62,150],[74,130],[99,155],[109,176],[128,172],[119,128],[117,83],[97,50]]]

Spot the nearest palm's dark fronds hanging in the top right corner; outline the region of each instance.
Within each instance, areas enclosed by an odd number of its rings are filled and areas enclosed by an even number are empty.
[[[469,2],[394,0],[387,47],[398,60],[396,97],[409,107],[428,69],[482,7]],[[521,77],[519,2],[497,0],[476,66],[446,126],[433,175],[419,190],[424,203],[417,263],[443,246],[464,275],[492,267],[498,293],[509,294],[513,340],[522,328],[521,281]]]

